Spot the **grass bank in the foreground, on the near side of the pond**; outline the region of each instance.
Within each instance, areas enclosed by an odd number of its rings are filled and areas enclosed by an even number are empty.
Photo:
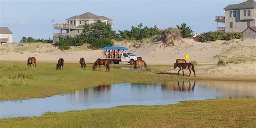
[[[2,127],[254,127],[256,99],[214,99],[161,106],[46,113],[0,120]]]

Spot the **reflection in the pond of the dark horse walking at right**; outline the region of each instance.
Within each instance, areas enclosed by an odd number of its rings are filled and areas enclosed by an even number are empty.
[[[181,82],[178,82],[178,85],[176,84],[176,82],[173,82],[172,84],[161,84],[161,88],[164,90],[169,90],[169,91],[194,91],[194,86],[196,86],[196,80],[194,80],[193,85],[191,85],[190,80],[188,80],[188,84],[184,84],[184,81],[182,82],[182,84],[180,84]]]

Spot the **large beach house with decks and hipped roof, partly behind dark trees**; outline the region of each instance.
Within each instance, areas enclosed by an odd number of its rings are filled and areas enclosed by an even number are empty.
[[[53,24],[53,43],[58,42],[60,36],[69,35],[71,37],[75,37],[76,35],[82,33],[83,26],[85,24],[91,24],[97,21],[109,24],[113,28],[114,21],[112,19],[86,12],[82,15],[73,16],[66,19],[66,23]]]

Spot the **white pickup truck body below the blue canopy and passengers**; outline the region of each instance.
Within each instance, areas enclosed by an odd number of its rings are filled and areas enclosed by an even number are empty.
[[[110,60],[111,64],[119,64],[120,62],[127,62],[133,65],[136,60],[142,60],[142,57],[138,57],[136,55],[133,55],[131,52],[123,52],[121,55],[121,58],[114,59],[114,58],[107,58]]]

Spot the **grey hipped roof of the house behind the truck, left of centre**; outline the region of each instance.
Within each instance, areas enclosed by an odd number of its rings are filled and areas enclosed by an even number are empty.
[[[73,16],[73,17],[70,17],[68,19],[94,19],[94,20],[106,20],[106,21],[113,21],[112,19],[110,18],[107,18],[105,16],[97,16],[97,15],[94,15],[90,12],[86,12],[82,15],[79,15],[79,16]],[[68,20],[66,19],[66,20]]]

